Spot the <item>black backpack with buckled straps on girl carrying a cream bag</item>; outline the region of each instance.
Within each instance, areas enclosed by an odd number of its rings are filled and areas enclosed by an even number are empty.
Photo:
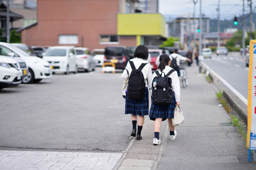
[[[171,87],[171,75],[175,69],[171,69],[168,74],[164,72],[159,74],[156,71],[156,77],[152,81],[152,101],[154,105],[170,105],[172,101],[173,91]],[[164,77],[162,76],[164,74]]]

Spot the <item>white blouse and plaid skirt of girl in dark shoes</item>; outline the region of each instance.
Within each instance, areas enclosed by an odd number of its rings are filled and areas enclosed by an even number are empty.
[[[144,81],[146,84],[144,97],[140,100],[130,99],[126,96],[127,85],[129,81],[129,75],[132,73],[132,67],[127,63],[127,66],[122,73],[122,78],[124,79],[124,86],[122,89],[122,95],[125,96],[125,114],[132,114],[132,115],[149,115],[149,89],[151,88],[151,81],[152,81],[152,72],[151,72],[151,64],[146,60],[141,58],[133,58],[130,60],[134,63],[136,69],[142,63],[146,63],[146,65],[142,69],[142,74],[144,76]]]

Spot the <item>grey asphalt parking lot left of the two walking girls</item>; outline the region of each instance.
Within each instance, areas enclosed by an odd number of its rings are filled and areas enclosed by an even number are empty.
[[[0,147],[120,152],[132,123],[121,74],[55,74],[0,91]]]

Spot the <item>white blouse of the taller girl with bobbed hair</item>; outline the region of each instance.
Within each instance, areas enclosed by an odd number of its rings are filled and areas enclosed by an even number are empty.
[[[149,62],[147,62],[146,60],[143,60],[141,58],[133,58],[132,60],[130,60],[134,63],[134,66],[136,69],[139,68],[139,66],[142,64],[142,63],[147,63],[143,69],[142,69],[142,74],[144,76],[144,79],[145,79],[145,83],[146,83],[146,86],[149,87],[149,89],[151,89],[151,82],[152,82],[152,70],[151,70],[151,64]],[[129,72],[129,74],[127,73],[127,71]],[[128,85],[128,81],[129,81],[129,75],[132,73],[132,67],[131,67],[131,64],[129,64],[129,62],[127,62],[127,66],[125,67],[124,69],[124,72],[122,73],[122,78],[124,79],[124,86],[123,86],[123,89],[122,89],[122,95],[126,95],[125,94],[125,91],[127,89],[127,85]]]

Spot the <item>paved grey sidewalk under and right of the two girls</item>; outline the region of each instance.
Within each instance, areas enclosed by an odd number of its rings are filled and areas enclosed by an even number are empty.
[[[147,119],[143,140],[132,141],[118,169],[256,169],[248,162],[245,141],[230,123],[215,94],[198,67],[186,67],[188,87],[181,89],[181,109],[185,123],[176,128],[175,141],[169,139],[167,121],[161,125],[161,145],[152,145],[154,122]],[[116,166],[116,167],[117,167]]]

